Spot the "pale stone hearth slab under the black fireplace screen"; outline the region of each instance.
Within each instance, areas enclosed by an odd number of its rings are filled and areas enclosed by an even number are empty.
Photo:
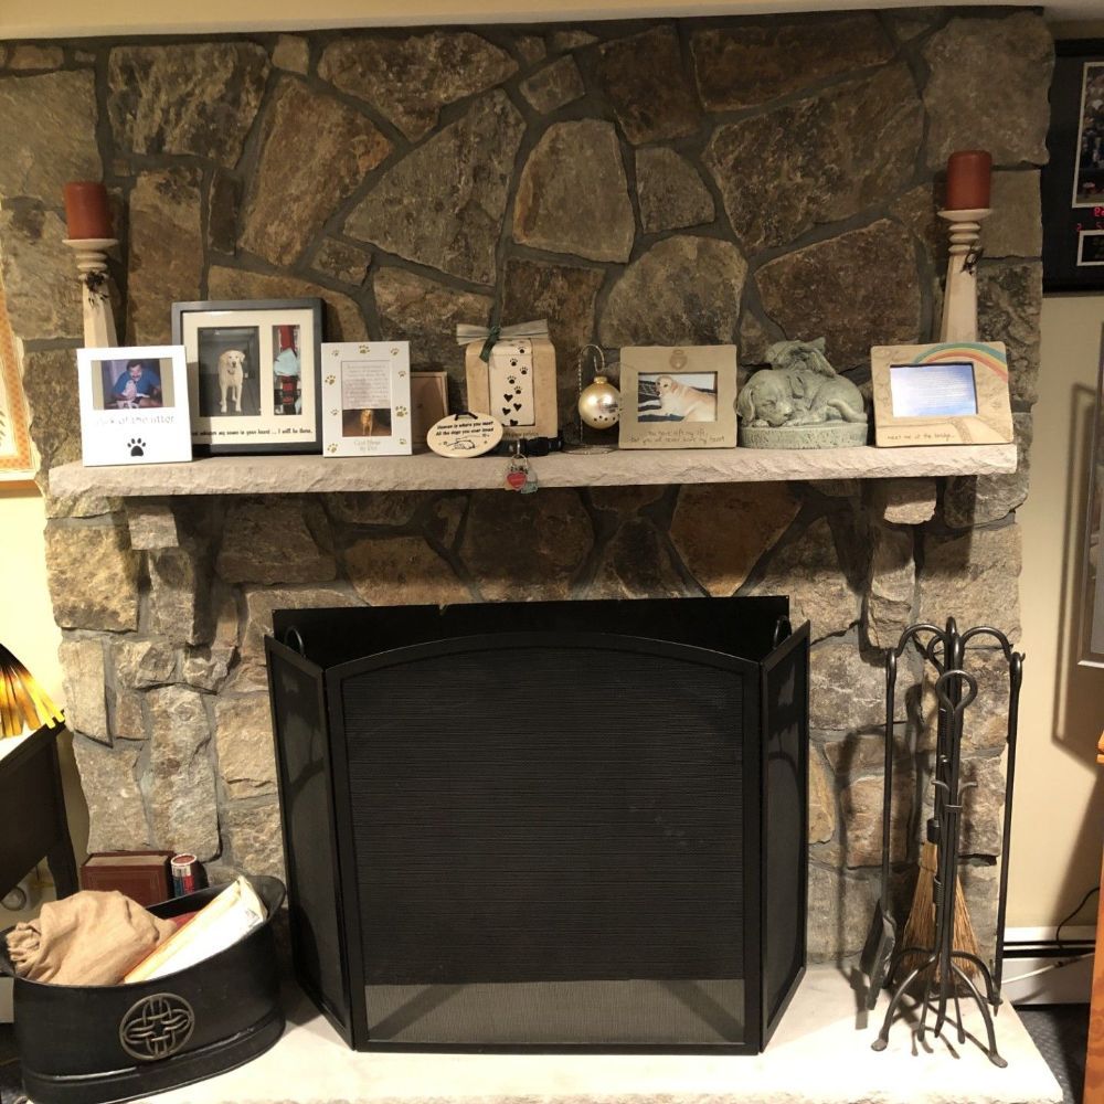
[[[240,1070],[164,1093],[157,1104],[1060,1104],[1062,1091],[1016,1011],[997,1017],[998,1070],[967,1041],[925,1040],[899,1022],[889,1049],[839,970],[809,972],[766,1052],[692,1054],[413,1054],[350,1051],[298,991],[289,1027]],[[967,1029],[976,1032],[976,1012]]]

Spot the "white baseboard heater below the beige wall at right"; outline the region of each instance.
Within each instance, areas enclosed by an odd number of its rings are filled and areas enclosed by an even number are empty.
[[[1010,927],[1005,932],[1002,996],[1013,1005],[1086,1005],[1093,991],[1096,930]],[[1026,976],[1030,975],[1030,976]]]

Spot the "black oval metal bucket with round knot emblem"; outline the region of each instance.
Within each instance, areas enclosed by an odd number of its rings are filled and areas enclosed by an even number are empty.
[[[272,921],[275,878],[250,881],[268,909],[244,940],[188,969],[137,985],[49,985],[15,977],[15,1042],[35,1104],[108,1104],[189,1085],[263,1054],[284,1032]],[[202,909],[221,887],[153,905]],[[14,977],[7,933],[0,974]]]

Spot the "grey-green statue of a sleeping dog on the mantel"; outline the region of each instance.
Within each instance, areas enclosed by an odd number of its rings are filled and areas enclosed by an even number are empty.
[[[837,375],[825,357],[825,339],[776,341],[767,349],[769,371],[756,372],[743,386],[736,413],[747,426],[822,425],[866,422],[862,393]]]

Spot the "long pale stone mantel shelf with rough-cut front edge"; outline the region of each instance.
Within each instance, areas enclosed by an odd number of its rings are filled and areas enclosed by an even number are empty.
[[[651,484],[782,482],[889,479],[914,476],[1006,475],[1016,470],[1015,445],[946,445],[832,449],[578,449],[530,460],[541,487]],[[190,464],[86,468],[65,464],[50,473],[60,498],[102,495],[301,495],[376,490],[486,490],[502,486],[500,456],[446,459],[417,456],[209,456]]]

